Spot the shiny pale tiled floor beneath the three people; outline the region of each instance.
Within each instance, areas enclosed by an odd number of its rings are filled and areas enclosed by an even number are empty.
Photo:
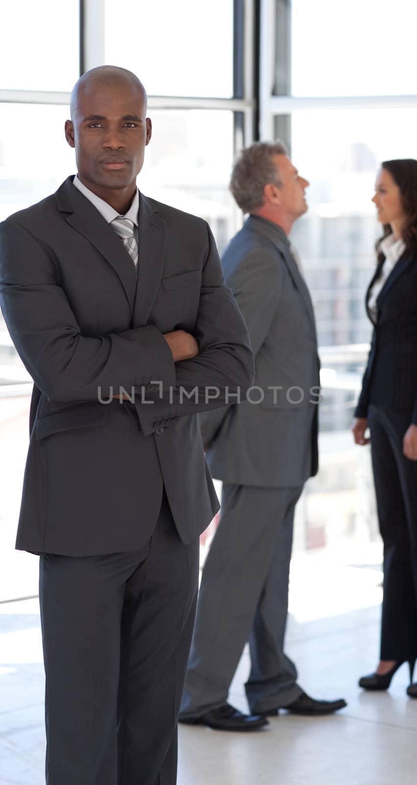
[[[296,560],[288,654],[306,691],[343,696],[348,707],[321,719],[281,714],[269,728],[248,735],[181,727],[179,785],[414,785],[417,700],[405,695],[406,667],[390,692],[372,695],[357,688],[358,675],[375,664],[379,577],[372,568],[338,570],[328,559]],[[245,652],[230,693],[240,708],[245,708],[247,670]],[[42,785],[43,668],[36,600],[0,605],[0,694],[0,783]]]

